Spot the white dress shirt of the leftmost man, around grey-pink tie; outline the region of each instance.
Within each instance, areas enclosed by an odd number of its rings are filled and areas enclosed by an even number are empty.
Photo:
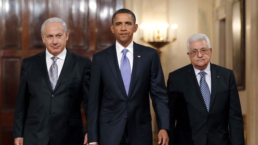
[[[67,52],[67,50],[65,48],[60,54],[57,55],[57,57],[58,57],[57,62],[56,62],[57,67],[58,67],[58,69],[57,69],[57,80],[59,78],[60,72],[61,72],[61,70],[63,68],[63,65],[64,65],[64,62],[65,62],[66,52]],[[46,62],[47,62],[47,69],[48,70],[53,63],[53,60],[51,59],[51,57],[53,57],[53,55],[48,52],[48,49],[46,49]]]

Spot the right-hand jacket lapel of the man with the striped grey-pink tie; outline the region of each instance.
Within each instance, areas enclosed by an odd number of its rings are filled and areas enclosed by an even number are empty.
[[[56,87],[54,89],[54,92],[57,90],[57,88],[59,87],[59,85],[61,84],[62,80],[65,78],[66,74],[68,73],[68,71],[70,70],[72,64],[74,63],[74,54],[69,51],[68,49],[66,49],[67,52],[66,52],[66,56],[65,56],[65,62],[64,62],[64,65],[63,65],[63,68],[60,72],[60,75],[58,77],[58,80],[57,80],[57,84],[56,84]]]

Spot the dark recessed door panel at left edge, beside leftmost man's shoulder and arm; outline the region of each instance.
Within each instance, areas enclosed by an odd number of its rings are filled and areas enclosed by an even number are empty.
[[[20,58],[2,59],[2,110],[15,108],[15,99],[20,77]]]

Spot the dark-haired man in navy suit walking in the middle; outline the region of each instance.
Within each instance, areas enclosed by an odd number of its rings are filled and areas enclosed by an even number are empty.
[[[152,99],[158,142],[168,144],[169,109],[158,52],[132,41],[138,25],[127,9],[110,25],[116,43],[92,58],[88,106],[88,142],[101,145],[151,145]]]

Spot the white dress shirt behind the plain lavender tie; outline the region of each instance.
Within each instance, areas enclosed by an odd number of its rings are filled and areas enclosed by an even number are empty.
[[[130,62],[130,66],[131,66],[131,73],[132,73],[132,69],[133,69],[133,54],[134,54],[134,42],[131,41],[131,43],[126,47],[126,49],[128,50],[126,53],[127,58],[129,59]],[[123,56],[123,49],[125,49],[122,45],[120,45],[117,41],[115,42],[115,49],[116,49],[116,55],[117,55],[117,61],[118,61],[118,65],[119,65],[119,69],[121,66],[121,59]]]

